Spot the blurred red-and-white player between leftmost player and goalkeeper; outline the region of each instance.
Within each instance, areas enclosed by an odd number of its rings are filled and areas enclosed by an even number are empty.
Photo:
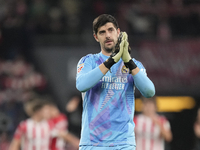
[[[79,139],[68,132],[68,119],[65,114],[61,113],[58,107],[51,101],[44,101],[43,114],[50,124],[53,125],[54,131],[59,133],[59,137],[51,137],[50,150],[67,150],[78,149]]]

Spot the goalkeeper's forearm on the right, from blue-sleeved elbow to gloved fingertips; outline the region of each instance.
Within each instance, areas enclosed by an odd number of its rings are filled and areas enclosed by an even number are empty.
[[[130,73],[133,76],[135,86],[141,92],[141,94],[146,97],[150,98],[155,95],[155,87],[153,82],[146,76],[144,72],[142,72],[139,67],[135,64],[132,60],[131,55],[129,53],[129,43],[128,43],[128,36],[124,32],[124,50],[122,54],[122,60],[127,68],[129,68]]]

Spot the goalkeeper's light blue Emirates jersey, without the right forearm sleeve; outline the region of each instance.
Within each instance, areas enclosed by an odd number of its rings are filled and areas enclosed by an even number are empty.
[[[102,53],[89,54],[77,65],[76,85],[79,86],[79,82],[84,80],[82,86],[85,89],[82,91],[80,146],[135,145],[133,76],[121,59],[103,75],[98,66],[106,59],[108,56]],[[141,62],[135,59],[133,61],[146,76]],[[94,72],[88,77],[87,74],[91,71]],[[99,78],[96,83],[93,81],[95,78]]]

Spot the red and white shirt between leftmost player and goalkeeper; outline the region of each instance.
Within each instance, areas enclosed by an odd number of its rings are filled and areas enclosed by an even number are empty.
[[[67,131],[68,120],[64,114],[50,120],[53,123],[54,129],[56,131]],[[65,141],[58,137],[52,137],[50,143],[50,150],[65,150]]]

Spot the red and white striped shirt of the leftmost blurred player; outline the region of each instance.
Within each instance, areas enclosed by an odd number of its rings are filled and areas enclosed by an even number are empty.
[[[22,150],[49,150],[52,125],[43,120],[27,119],[19,124],[14,138],[21,139]]]

